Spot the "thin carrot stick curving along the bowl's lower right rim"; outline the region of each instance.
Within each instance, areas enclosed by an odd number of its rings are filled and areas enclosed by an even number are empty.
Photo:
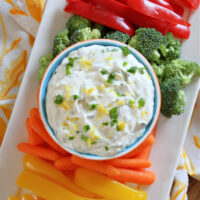
[[[145,139],[145,141],[142,144],[140,144],[136,149],[127,153],[126,155],[122,156],[121,158],[132,158],[133,156],[135,156],[136,154],[141,152],[146,146],[152,145],[153,143],[154,143],[154,137],[152,135],[149,135]]]

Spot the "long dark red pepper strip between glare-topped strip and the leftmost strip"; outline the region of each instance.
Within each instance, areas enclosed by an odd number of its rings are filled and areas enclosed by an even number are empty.
[[[132,10],[127,5],[122,4],[116,0],[85,0],[85,1],[91,3],[96,7],[100,7],[103,10],[114,12],[117,15],[125,18],[132,24],[141,27],[155,28],[156,30],[160,31],[163,34],[166,34],[168,32],[170,25],[168,22],[143,15],[142,13]]]

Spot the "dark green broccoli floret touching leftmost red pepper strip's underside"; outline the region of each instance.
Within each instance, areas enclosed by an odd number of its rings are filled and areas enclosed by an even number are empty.
[[[78,15],[72,15],[66,23],[66,28],[69,30],[71,36],[78,29],[89,27],[91,28],[92,23],[90,20],[83,18]]]

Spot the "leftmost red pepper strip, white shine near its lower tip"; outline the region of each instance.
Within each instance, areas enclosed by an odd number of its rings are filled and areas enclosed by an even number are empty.
[[[69,0],[65,11],[88,18],[96,23],[127,33],[130,36],[134,34],[132,25],[124,18],[109,11],[95,8],[93,5],[80,0]]]

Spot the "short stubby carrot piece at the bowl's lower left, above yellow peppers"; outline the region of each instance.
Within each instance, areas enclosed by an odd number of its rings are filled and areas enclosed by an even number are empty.
[[[54,166],[59,170],[76,170],[78,168],[77,165],[72,163],[71,156],[62,157],[58,159]]]

